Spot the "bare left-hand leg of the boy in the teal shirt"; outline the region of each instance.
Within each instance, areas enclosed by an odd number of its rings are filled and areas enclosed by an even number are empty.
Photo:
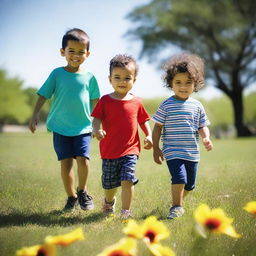
[[[61,178],[68,197],[76,197],[74,189],[75,177],[73,172],[73,158],[60,160]]]

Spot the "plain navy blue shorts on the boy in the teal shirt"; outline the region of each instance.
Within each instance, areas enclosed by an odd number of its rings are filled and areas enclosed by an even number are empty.
[[[77,136],[64,136],[56,132],[53,133],[53,146],[58,160],[75,158],[77,156],[89,159],[91,145],[91,133]]]

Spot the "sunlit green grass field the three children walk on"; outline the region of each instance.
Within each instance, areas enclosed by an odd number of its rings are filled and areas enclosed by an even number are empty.
[[[256,200],[256,139],[215,140],[214,150],[201,150],[196,190],[186,198],[184,217],[165,219],[170,203],[170,177],[165,164],[156,165],[152,151],[142,151],[137,165],[133,212],[142,221],[155,215],[170,230],[162,242],[176,255],[256,255],[256,218],[242,208]],[[47,235],[64,234],[82,227],[86,240],[59,249],[59,255],[94,256],[122,236],[124,224],[101,214],[101,160],[94,140],[91,151],[89,190],[95,210],[62,214],[66,196],[51,134],[7,133],[0,135],[0,255],[15,255],[23,246],[40,244]],[[234,218],[242,238],[212,235],[202,239],[194,232],[193,211],[200,204],[221,207]],[[120,201],[117,204],[120,210]],[[140,256],[148,255],[141,249]]]

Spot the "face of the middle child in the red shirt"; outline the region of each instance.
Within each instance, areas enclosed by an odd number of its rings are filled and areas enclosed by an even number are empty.
[[[119,96],[125,96],[132,89],[136,81],[134,64],[131,63],[124,68],[113,68],[109,81]]]

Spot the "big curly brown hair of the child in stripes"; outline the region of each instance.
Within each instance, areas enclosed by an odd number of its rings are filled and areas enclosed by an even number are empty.
[[[165,70],[164,81],[166,87],[172,87],[172,80],[178,73],[188,72],[195,83],[197,92],[204,86],[204,61],[196,54],[180,53],[172,56],[163,66]]]

